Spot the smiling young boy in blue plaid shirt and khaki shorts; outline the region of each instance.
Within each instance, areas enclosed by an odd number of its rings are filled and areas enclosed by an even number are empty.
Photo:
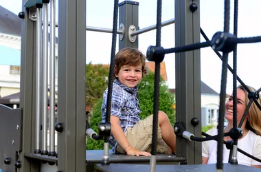
[[[113,152],[127,155],[149,156],[152,144],[152,122],[150,115],[139,118],[139,83],[146,71],[146,56],[134,48],[124,48],[115,56],[115,80],[111,99],[111,136],[109,144]],[[108,89],[103,94],[102,122],[106,119]],[[168,116],[159,111],[158,153],[176,151],[176,136]]]

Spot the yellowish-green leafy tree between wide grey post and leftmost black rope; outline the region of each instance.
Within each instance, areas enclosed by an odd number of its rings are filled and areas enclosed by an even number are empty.
[[[108,76],[109,67],[91,63],[86,65],[86,103],[91,109],[108,87]]]

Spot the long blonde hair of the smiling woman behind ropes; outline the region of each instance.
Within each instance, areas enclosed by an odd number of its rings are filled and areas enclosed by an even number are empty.
[[[253,87],[247,86],[251,92],[256,92],[256,89],[254,89]],[[242,91],[245,92],[245,103],[246,105],[249,104],[249,98],[248,95],[249,93],[247,92],[247,90],[245,89],[245,87],[243,87],[242,85],[238,86],[238,89],[241,89]],[[257,102],[259,103],[259,105],[261,105],[261,99],[260,99],[260,94],[259,94],[259,98],[257,100]],[[250,129],[251,131],[253,131],[254,133],[256,133],[257,135],[261,136],[261,110],[258,108],[258,106],[256,105],[256,103],[252,103],[249,111],[249,118],[247,120],[247,124],[246,124],[246,128]]]

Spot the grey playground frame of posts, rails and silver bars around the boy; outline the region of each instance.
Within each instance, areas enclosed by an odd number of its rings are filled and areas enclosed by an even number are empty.
[[[86,149],[85,133],[85,65],[86,30],[112,32],[109,29],[87,27],[85,0],[59,0],[58,25],[54,22],[55,6],[51,1],[51,22],[48,23],[49,0],[23,0],[22,47],[21,47],[21,100],[19,109],[8,109],[0,105],[1,126],[10,124],[10,133],[6,138],[12,140],[1,142],[0,151],[5,156],[0,157],[0,169],[5,171],[41,171],[42,164],[56,165],[58,171],[89,171],[88,162],[91,154]],[[53,4],[53,5],[52,5]],[[135,1],[119,3],[119,48],[138,47],[138,34],[155,28],[151,26],[137,30],[138,6]],[[41,10],[43,8],[43,64],[41,64]],[[162,25],[175,23],[175,46],[189,45],[200,42],[199,23],[200,1],[175,0],[175,19],[163,22]],[[58,123],[54,124],[54,75],[50,75],[50,143],[47,149],[47,57],[48,57],[48,25],[50,25],[50,61],[54,59],[54,30],[58,26]],[[201,66],[200,50],[176,54],[176,121],[182,122],[185,129],[194,136],[201,136]],[[51,63],[50,73],[54,72]],[[41,74],[43,71],[43,74]],[[43,78],[43,80],[41,80]],[[43,87],[40,87],[43,85]],[[43,93],[43,94],[41,94]],[[6,112],[5,112],[6,111]],[[41,114],[41,115],[40,115]],[[15,118],[10,120],[8,118]],[[4,120],[2,120],[4,119]],[[54,147],[54,126],[58,131],[58,150]],[[6,128],[5,128],[6,129]],[[3,133],[0,135],[5,137]],[[15,138],[15,139],[14,139]],[[17,141],[16,141],[17,140]],[[3,143],[3,144],[2,144]],[[15,146],[14,146],[15,145]],[[4,154],[3,153],[3,154]],[[89,156],[90,157],[89,157]],[[111,155],[111,154],[110,154]],[[94,155],[95,156],[95,155]],[[148,158],[126,158],[114,156],[111,162],[149,162]],[[93,160],[100,164],[102,158]],[[157,162],[182,162],[181,164],[201,164],[201,142],[177,138],[176,156],[170,158],[157,157]],[[93,158],[94,159],[94,158]],[[113,168],[112,165],[108,165]],[[102,171],[103,167],[100,167]],[[116,166],[117,167],[117,166]],[[120,164],[118,167],[122,167]],[[134,166],[142,171],[142,166]],[[133,167],[133,168],[134,168]],[[214,165],[206,168],[214,169]],[[225,166],[226,167],[226,166]],[[239,166],[240,168],[242,166]],[[110,168],[110,167],[109,167]],[[156,166],[156,169],[159,166]],[[163,166],[169,169],[169,166]],[[177,166],[176,169],[183,169]],[[188,166],[191,171],[198,166]],[[229,166],[229,168],[231,168]],[[228,168],[228,169],[229,169]],[[244,168],[242,168],[244,170]],[[108,169],[110,170],[110,169]],[[113,169],[111,169],[113,170]],[[137,171],[136,170],[136,171]],[[159,170],[159,169],[157,169]],[[173,169],[174,170],[174,169]],[[106,171],[106,169],[104,170]],[[135,171],[135,169],[133,169]],[[154,169],[155,171],[155,169]]]

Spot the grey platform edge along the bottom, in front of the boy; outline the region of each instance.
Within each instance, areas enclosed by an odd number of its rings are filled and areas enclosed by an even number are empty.
[[[102,172],[115,172],[115,171],[123,171],[124,172],[146,172],[150,171],[150,165],[148,164],[110,164],[110,165],[102,165],[97,164],[96,166],[98,171]],[[197,164],[197,165],[157,165],[156,172],[216,172],[216,164]],[[252,166],[245,165],[231,165],[224,164],[223,166],[224,172],[260,172],[261,170]]]

